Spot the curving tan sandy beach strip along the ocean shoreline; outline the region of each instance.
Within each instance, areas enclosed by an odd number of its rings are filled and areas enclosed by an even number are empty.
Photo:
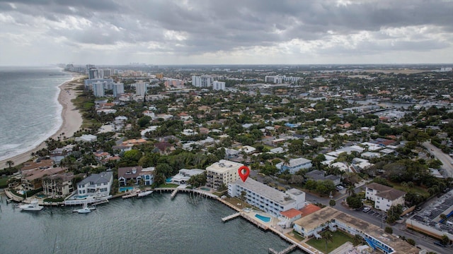
[[[76,73],[72,74],[72,80],[69,80],[62,85],[59,85],[59,95],[58,95],[58,102],[62,104],[62,119],[63,123],[62,126],[58,129],[58,131],[51,135],[50,138],[57,139],[59,135],[64,135],[67,138],[71,137],[74,135],[76,131],[79,131],[79,128],[82,125],[82,116],[79,112],[79,110],[76,110],[76,107],[74,104],[72,104],[71,99],[76,98],[76,90],[74,88],[76,87],[75,81],[78,80],[79,78],[83,77],[83,75],[79,75]],[[63,134],[64,133],[64,134]],[[31,159],[31,153],[36,152],[38,150],[41,150],[42,148],[45,147],[45,143],[42,142],[38,147],[33,148],[32,150],[29,150],[27,152],[24,152],[21,155],[16,155],[14,157],[4,159],[0,161],[0,169],[3,169],[5,167],[8,167],[6,165],[6,162],[8,160],[12,160],[14,162],[14,165],[21,164],[23,162],[27,162],[29,159]]]

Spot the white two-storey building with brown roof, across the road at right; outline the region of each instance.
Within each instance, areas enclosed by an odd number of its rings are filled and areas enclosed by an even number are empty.
[[[404,205],[404,191],[399,191],[379,183],[369,183],[365,198],[374,201],[374,208],[386,212],[392,205]]]

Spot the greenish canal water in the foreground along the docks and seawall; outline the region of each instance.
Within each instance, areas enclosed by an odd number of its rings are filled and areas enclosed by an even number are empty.
[[[268,253],[289,246],[244,219],[222,222],[235,211],[220,202],[195,204],[182,193],[110,200],[88,214],[74,207],[23,212],[2,198],[1,253]]]

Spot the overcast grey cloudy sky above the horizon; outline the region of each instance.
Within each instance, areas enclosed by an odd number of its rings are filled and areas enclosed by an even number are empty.
[[[0,0],[1,66],[452,59],[452,0]]]

